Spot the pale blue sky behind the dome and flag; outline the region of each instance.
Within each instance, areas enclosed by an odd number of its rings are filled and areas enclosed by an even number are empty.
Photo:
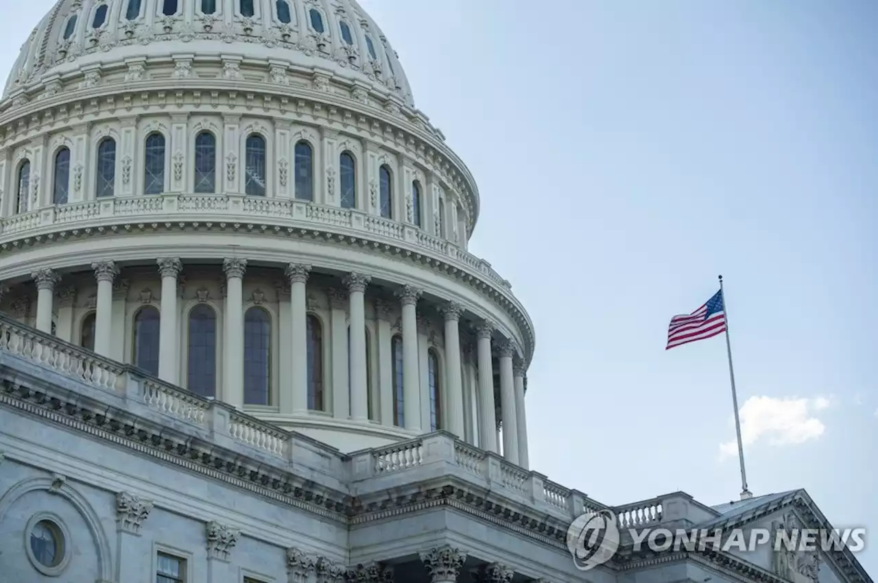
[[[0,20],[0,69],[51,4]],[[878,4],[362,4],[536,324],[533,469],[609,504],[737,499],[723,338],[664,350],[723,274],[751,490],[878,527]]]

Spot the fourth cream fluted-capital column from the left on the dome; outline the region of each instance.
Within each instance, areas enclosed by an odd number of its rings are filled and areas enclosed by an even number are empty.
[[[226,259],[226,358],[223,362],[222,400],[233,407],[244,407],[244,272],[247,260]]]

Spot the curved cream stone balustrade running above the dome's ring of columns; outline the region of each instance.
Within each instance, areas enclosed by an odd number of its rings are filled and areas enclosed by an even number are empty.
[[[52,205],[0,219],[0,244],[23,236],[45,235],[60,230],[99,228],[124,223],[152,224],[198,221],[203,224],[248,224],[269,221],[288,228],[313,229],[322,225],[334,231],[353,231],[378,240],[411,245],[483,275],[502,289],[511,289],[491,264],[463,248],[402,224],[358,210],[342,209],[290,198],[241,195],[164,194],[108,197],[93,201]],[[347,234],[347,233],[346,233]]]

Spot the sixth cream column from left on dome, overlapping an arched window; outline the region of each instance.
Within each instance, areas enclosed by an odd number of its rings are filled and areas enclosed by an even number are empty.
[[[344,285],[348,288],[350,317],[350,416],[357,421],[369,419],[369,382],[366,379],[366,308],[364,297],[369,275],[348,274]]]

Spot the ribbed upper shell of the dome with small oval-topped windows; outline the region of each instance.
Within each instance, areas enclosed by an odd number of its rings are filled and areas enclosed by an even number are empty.
[[[58,0],[22,46],[4,96],[83,68],[183,53],[262,65],[266,76],[320,71],[414,105],[396,53],[356,0]]]

